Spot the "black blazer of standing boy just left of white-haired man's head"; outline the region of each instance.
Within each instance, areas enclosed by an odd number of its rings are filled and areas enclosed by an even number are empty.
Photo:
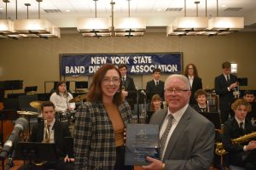
[[[148,101],[151,101],[151,98],[154,94],[159,94],[161,99],[165,99],[165,82],[159,81],[158,86],[155,85],[154,80],[147,82],[146,85],[146,94]]]

